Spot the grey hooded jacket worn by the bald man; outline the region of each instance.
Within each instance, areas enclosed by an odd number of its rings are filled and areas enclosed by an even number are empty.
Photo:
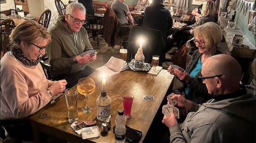
[[[171,143],[255,143],[255,95],[193,104],[185,121],[169,128]]]

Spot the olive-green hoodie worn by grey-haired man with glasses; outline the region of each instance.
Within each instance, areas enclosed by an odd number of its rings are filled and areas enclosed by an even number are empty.
[[[84,70],[86,65],[74,62],[73,57],[93,49],[84,27],[75,33],[67,27],[64,21],[64,16],[58,17],[58,21],[48,31],[52,37],[52,42],[49,43],[46,51],[53,77]]]

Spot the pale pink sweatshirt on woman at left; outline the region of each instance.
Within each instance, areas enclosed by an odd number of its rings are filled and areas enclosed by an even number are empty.
[[[50,100],[47,88],[54,81],[47,80],[41,64],[26,66],[7,52],[1,59],[0,118],[25,118]]]

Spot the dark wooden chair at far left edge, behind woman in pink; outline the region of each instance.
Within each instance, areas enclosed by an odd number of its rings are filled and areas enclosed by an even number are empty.
[[[0,22],[1,53],[3,51],[3,55],[10,50],[9,35],[11,34],[13,28],[15,28],[15,23],[11,19],[5,19]]]

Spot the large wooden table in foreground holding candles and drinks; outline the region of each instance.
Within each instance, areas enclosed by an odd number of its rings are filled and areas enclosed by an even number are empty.
[[[88,105],[93,107],[92,112],[83,114],[80,110],[85,106],[83,95],[78,97],[79,121],[97,121],[99,132],[101,132],[101,123],[96,119],[96,98],[100,93],[102,75],[94,72],[91,77],[96,84],[96,90],[88,97]],[[123,71],[115,76],[107,78],[107,91],[111,97],[111,130],[105,137],[94,140],[82,140],[81,135],[76,134],[70,128],[67,122],[67,105],[64,95],[61,95],[55,104],[47,104],[29,119],[32,122],[35,142],[40,143],[39,132],[52,135],[71,143],[114,143],[113,126],[118,109],[123,109],[122,95],[134,95],[134,101],[131,109],[132,118],[127,120],[126,125],[140,130],[143,135],[140,143],[143,142],[145,135],[160,107],[166,92],[172,83],[173,75],[167,70],[161,70],[157,75],[151,75],[146,72],[134,72],[131,70]],[[75,86],[76,87],[76,86]],[[73,87],[74,88],[74,87]],[[143,100],[143,95],[154,95],[155,100]],[[39,115],[46,113],[46,118],[39,118]]]

